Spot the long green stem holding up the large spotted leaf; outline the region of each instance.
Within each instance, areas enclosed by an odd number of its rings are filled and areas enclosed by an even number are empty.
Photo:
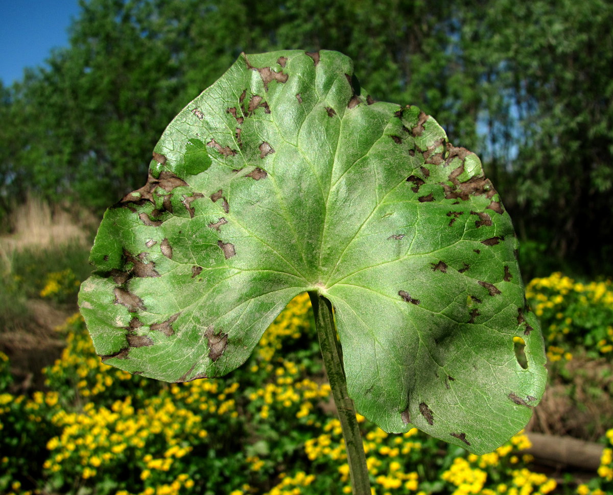
[[[326,373],[332,389],[334,403],[337,406],[338,418],[343,429],[343,439],[347,451],[351,489],[353,495],[370,495],[370,480],[364,454],[364,444],[360,428],[357,425],[356,409],[347,393],[345,369],[341,357],[340,344],[332,316],[332,304],[322,295],[309,292],[311,306],[315,314],[315,325],[319,336],[319,346],[324,358]]]

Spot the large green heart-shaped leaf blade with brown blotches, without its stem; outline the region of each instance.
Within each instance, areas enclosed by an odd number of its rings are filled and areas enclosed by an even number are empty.
[[[434,119],[373,102],[340,53],[280,51],[241,56],[170,123],[105,214],[80,304],[105,363],[183,382],[240,366],[317,291],[361,414],[483,453],[546,380],[516,254],[478,157]]]

